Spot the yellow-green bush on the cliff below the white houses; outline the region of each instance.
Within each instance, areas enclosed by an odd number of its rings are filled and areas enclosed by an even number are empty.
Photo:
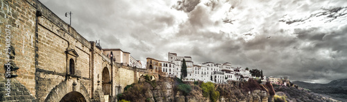
[[[214,83],[201,83],[201,88],[203,89],[203,96],[209,97],[212,102],[219,99],[219,92],[214,90]]]

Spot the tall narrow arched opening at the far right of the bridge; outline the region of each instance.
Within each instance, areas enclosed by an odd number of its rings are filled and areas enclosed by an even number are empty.
[[[111,92],[111,80],[110,80],[110,72],[108,68],[103,68],[103,94],[110,95]]]

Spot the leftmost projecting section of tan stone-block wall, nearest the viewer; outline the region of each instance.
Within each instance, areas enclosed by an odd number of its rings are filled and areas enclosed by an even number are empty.
[[[19,67],[17,81],[35,94],[35,12],[36,9],[26,1],[0,1],[0,65],[6,58],[6,32],[10,32],[10,45],[15,48],[13,62]],[[31,1],[28,1],[31,2]],[[6,27],[7,26],[7,27]],[[8,29],[8,30],[6,30]],[[4,68],[0,68],[4,73]]]

